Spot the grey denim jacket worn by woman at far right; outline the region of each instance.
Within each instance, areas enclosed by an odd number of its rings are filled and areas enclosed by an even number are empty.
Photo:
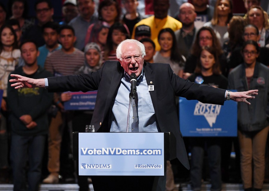
[[[251,105],[238,102],[237,118],[239,130],[252,132],[259,131],[268,126],[269,123],[266,115],[269,98],[268,67],[256,62],[250,87],[248,87],[245,65],[244,63],[238,65],[228,76],[228,89],[236,89],[237,91],[259,90],[255,99],[248,99]]]

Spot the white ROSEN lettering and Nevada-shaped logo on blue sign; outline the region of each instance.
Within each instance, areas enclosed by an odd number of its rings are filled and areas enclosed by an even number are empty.
[[[204,115],[204,117],[207,120],[207,123],[210,125],[210,127],[212,127],[213,123],[216,122],[216,119],[220,113],[220,110],[221,110],[220,105],[198,102],[195,105],[193,114]]]

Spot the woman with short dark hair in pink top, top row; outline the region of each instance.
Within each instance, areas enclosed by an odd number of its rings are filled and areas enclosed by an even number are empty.
[[[99,21],[91,24],[88,27],[85,37],[85,45],[89,42],[94,42],[95,36],[98,36],[99,31],[96,28],[100,25],[105,25],[106,28],[111,27],[115,22],[120,21],[120,6],[117,1],[104,0],[99,4],[98,14]],[[95,26],[97,25],[97,26]],[[107,30],[107,29],[106,29]],[[102,47],[101,47],[102,48]]]

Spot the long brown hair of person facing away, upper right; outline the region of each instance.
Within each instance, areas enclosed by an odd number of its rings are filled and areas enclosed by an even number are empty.
[[[242,45],[244,43],[242,36],[246,25],[247,21],[242,16],[233,16],[230,20],[228,33],[231,50],[233,50],[237,45]]]

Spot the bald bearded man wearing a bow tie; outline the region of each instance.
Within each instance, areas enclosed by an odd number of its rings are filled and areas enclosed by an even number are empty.
[[[195,8],[190,3],[183,3],[179,7],[178,18],[182,23],[182,28],[175,31],[175,36],[177,44],[180,45],[178,49],[185,58],[187,58],[190,53],[192,43],[196,36],[197,29],[194,26],[196,15]]]

